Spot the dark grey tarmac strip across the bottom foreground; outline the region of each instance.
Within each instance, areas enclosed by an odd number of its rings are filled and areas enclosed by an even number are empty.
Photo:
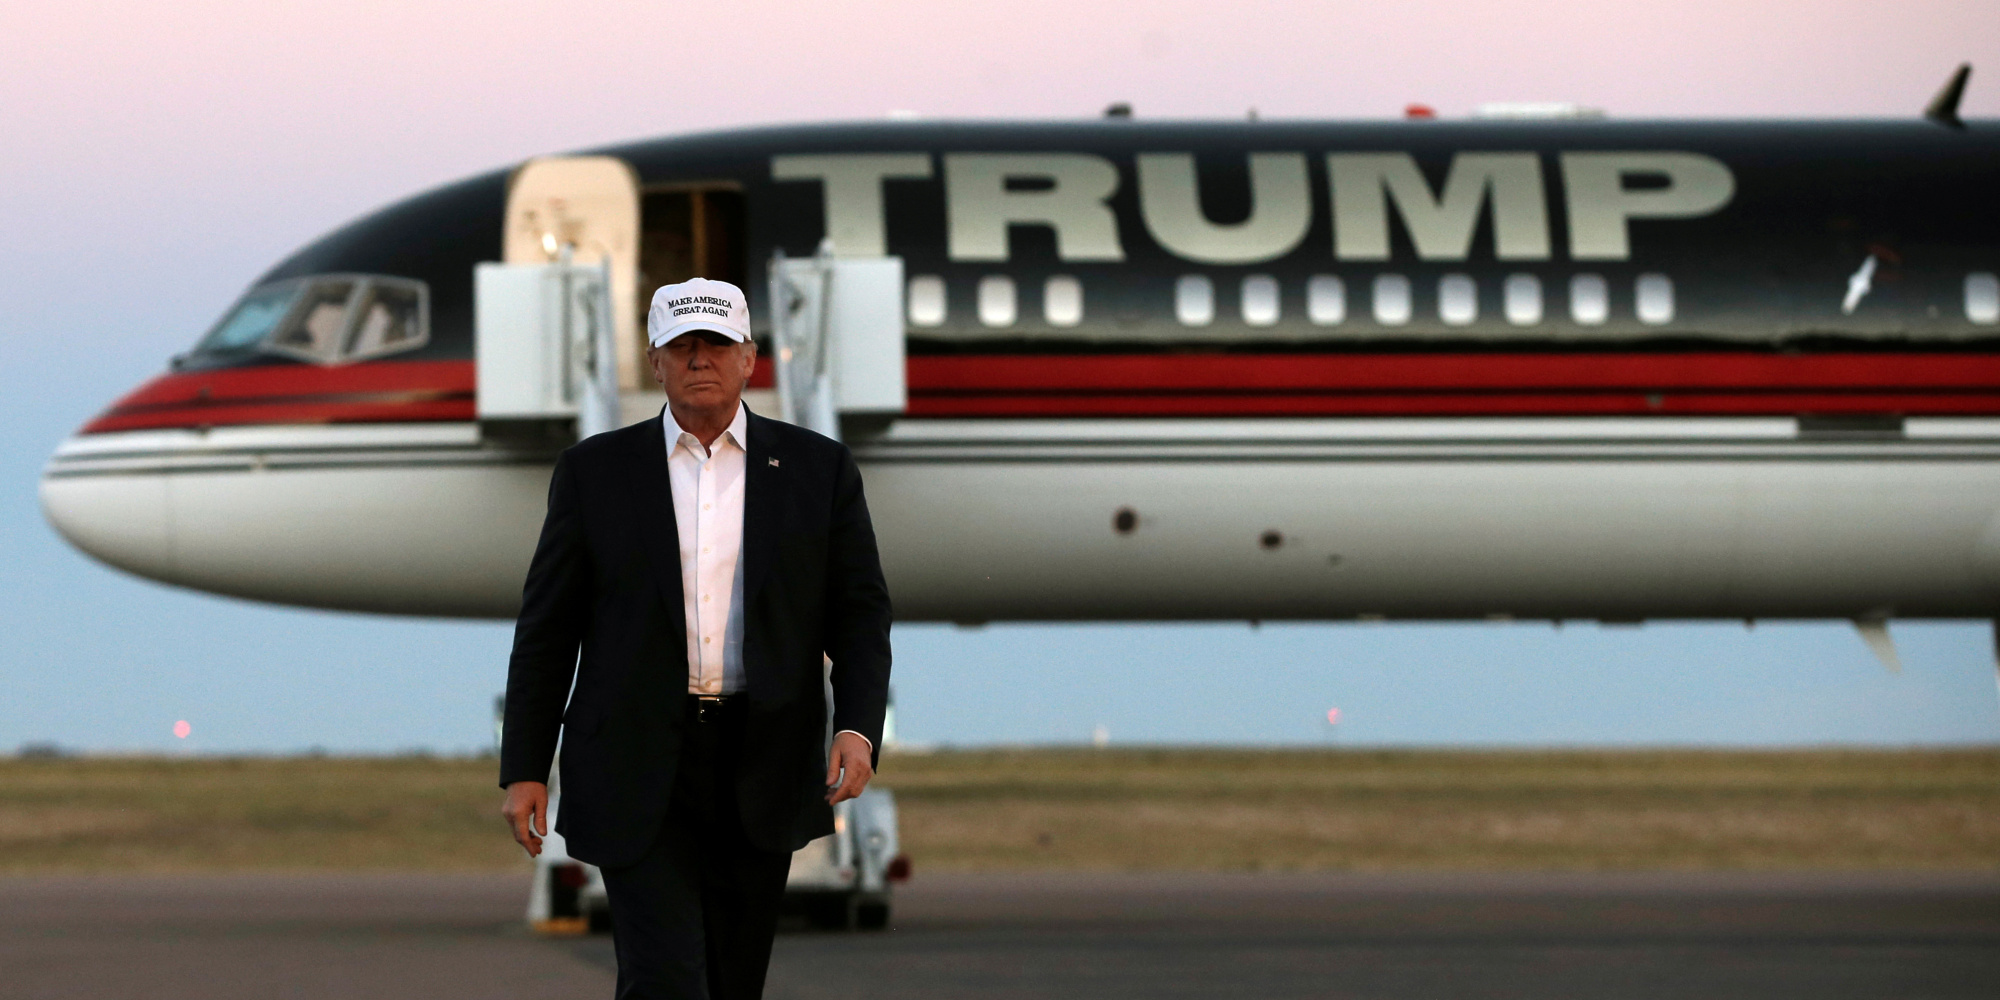
[[[0,878],[0,996],[608,998],[520,874]],[[2000,996],[2000,872],[922,874],[772,1000]]]

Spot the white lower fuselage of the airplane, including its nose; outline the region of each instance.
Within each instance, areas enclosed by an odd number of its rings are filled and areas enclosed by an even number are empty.
[[[900,620],[1984,618],[2000,420],[898,420],[850,440]],[[508,618],[550,456],[476,424],[80,434],[78,548],[254,600]],[[1130,512],[1130,516],[1120,516]],[[1126,530],[1120,530],[1126,528]]]

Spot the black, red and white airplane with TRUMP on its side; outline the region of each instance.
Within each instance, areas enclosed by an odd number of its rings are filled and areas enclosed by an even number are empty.
[[[752,296],[750,406],[854,450],[904,622],[1886,642],[2000,608],[2000,124],[1964,82],[1910,120],[1114,108],[536,158],[272,266],[42,508],[176,586],[510,618],[556,454],[658,414],[642,310],[700,274]]]

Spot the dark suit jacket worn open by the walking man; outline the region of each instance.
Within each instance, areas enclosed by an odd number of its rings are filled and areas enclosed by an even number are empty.
[[[834,730],[882,746],[888,588],[846,446],[756,414],[746,436],[738,802],[756,848],[790,852],[834,830],[822,652]],[[686,698],[680,538],[654,418],[556,460],[514,626],[500,784],[546,782],[560,726],[556,830],[578,860],[630,864],[666,814]]]

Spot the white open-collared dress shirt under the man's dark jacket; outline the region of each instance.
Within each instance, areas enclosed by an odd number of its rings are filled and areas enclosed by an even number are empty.
[[[744,478],[750,420],[742,404],[712,448],[680,428],[666,430],[666,478],[680,534],[680,596],[688,616],[688,694],[744,690]],[[854,730],[840,730],[854,732]],[[854,736],[862,736],[854,732]],[[866,736],[862,742],[874,746]]]

